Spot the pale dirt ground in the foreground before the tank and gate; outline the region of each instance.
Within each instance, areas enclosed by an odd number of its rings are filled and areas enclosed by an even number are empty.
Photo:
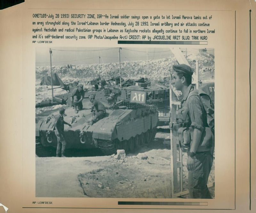
[[[93,152],[83,157],[77,157],[79,154],[66,158],[36,157],[36,197],[172,197],[170,130],[167,127],[158,129],[152,143],[144,144],[121,159],[114,155],[91,156],[98,151]],[[185,164],[186,154],[183,154],[184,189],[188,178]],[[214,182],[214,163],[208,180],[211,182]],[[214,197],[214,187],[210,191]]]

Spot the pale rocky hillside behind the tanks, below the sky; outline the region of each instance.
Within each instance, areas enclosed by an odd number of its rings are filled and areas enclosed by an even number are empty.
[[[188,54],[187,60],[192,68],[196,69],[196,60],[199,61],[199,72],[211,72],[214,75],[214,56],[208,53]],[[121,63],[123,78],[148,77],[151,80],[162,80],[170,75],[172,65],[176,63],[175,57],[148,61],[124,61]],[[36,67],[36,80],[44,75],[50,75],[50,66]],[[119,63],[84,64],[52,66],[64,83],[74,79],[95,78],[99,74],[105,79],[119,75]]]

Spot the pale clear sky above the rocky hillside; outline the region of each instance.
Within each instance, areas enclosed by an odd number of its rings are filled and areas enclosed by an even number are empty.
[[[118,47],[114,48],[85,48],[85,47],[52,47],[52,66],[57,65],[79,65],[119,62]],[[198,48],[181,48],[188,53],[199,52]],[[207,50],[214,55],[213,49]],[[170,48],[122,48],[120,49],[120,60],[156,60],[173,56]],[[36,66],[49,66],[50,52],[47,47],[36,48]]]

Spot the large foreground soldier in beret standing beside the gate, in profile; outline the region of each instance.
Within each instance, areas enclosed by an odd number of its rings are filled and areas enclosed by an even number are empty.
[[[181,118],[183,127],[180,128],[181,131],[180,129],[178,130],[178,133],[181,132],[182,137],[184,137],[180,145],[181,147],[186,147],[188,153],[189,197],[211,198],[207,181],[213,162],[214,136],[207,124],[208,118],[205,111],[205,103],[204,105],[202,104],[198,90],[191,84],[192,68],[188,65],[180,64],[173,65],[173,70],[172,84],[183,94],[181,100],[182,108],[178,112],[178,118]],[[185,130],[189,137],[185,137]]]

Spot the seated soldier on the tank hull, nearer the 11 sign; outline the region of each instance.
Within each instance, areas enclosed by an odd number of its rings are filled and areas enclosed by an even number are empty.
[[[90,97],[90,101],[92,102],[91,112],[93,112],[93,117],[90,122],[90,125],[92,125],[98,120],[104,118],[106,114],[106,109],[105,109],[105,106],[99,100],[95,100],[94,96]]]

